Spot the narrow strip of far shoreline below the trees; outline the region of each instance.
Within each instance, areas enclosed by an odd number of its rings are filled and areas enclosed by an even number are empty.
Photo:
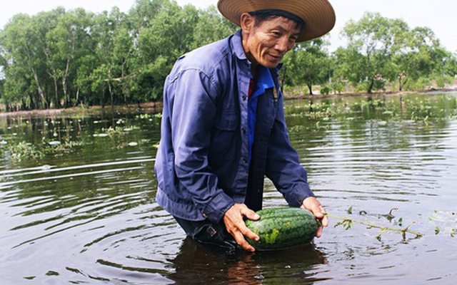
[[[315,95],[284,95],[284,100],[311,100],[325,98],[349,98],[349,97],[378,97],[384,95],[410,95],[410,94],[427,94],[427,93],[457,93],[457,88],[433,88],[427,90],[407,90],[407,91],[385,91],[376,93],[341,93],[341,94],[315,94]],[[97,115],[106,112],[125,112],[125,113],[158,113],[162,109],[161,102],[148,102],[129,105],[100,105],[89,107],[71,107],[61,109],[45,109],[45,110],[20,110],[14,112],[0,111],[1,117],[34,117],[34,116],[62,116],[62,115]]]

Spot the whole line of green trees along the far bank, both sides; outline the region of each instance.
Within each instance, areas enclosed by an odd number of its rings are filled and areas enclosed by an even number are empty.
[[[0,99],[6,110],[119,105],[161,100],[176,58],[238,28],[214,6],[136,0],[124,13],[57,8],[15,15],[0,31]],[[444,83],[457,74],[456,55],[430,28],[366,13],[349,21],[346,47],[328,52],[328,38],[298,43],[283,59],[286,88],[347,86],[371,93]]]

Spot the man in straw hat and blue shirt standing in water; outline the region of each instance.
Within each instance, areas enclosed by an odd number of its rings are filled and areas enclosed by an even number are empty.
[[[328,225],[288,138],[278,69],[294,43],[330,31],[335,14],[327,0],[218,8],[241,30],[181,56],[166,78],[156,198],[199,242],[254,251],[245,237],[258,236],[243,219],[260,218],[265,176],[289,206]]]

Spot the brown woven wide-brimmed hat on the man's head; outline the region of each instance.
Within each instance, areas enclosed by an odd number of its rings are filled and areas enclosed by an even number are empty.
[[[309,41],[325,35],[335,26],[336,16],[328,0],[219,0],[217,7],[222,16],[240,26],[241,14],[278,9],[292,13],[305,22],[297,42]]]

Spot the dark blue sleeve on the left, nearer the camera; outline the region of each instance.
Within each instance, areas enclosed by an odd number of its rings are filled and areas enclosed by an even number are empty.
[[[218,178],[209,167],[216,85],[203,72],[189,69],[179,73],[166,92],[171,98],[169,112],[176,176],[203,216],[211,222],[219,222],[234,202],[218,187]]]

